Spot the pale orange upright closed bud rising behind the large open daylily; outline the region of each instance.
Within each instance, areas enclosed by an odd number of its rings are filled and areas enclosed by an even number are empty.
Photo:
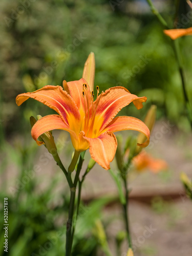
[[[86,63],[84,63],[82,78],[86,79],[88,82],[91,92],[94,91],[95,55],[93,52],[90,53]]]

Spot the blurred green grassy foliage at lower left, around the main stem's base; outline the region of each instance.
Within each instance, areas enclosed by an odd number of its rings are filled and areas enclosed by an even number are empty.
[[[63,254],[69,209],[68,189],[65,188],[59,196],[55,197],[56,188],[61,185],[60,178],[55,175],[48,181],[46,188],[43,191],[40,189],[37,193],[42,180],[37,179],[35,172],[31,171],[36,154],[36,147],[33,145],[27,144],[26,148],[19,148],[17,143],[13,148],[5,144],[5,152],[9,154],[9,160],[20,169],[15,184],[7,187],[4,183],[0,191],[2,221],[3,202],[4,198],[8,197],[9,255],[59,256]],[[59,170],[57,168],[56,172]],[[80,205],[72,255],[96,255],[100,244],[93,235],[95,222],[101,219],[102,208],[112,200],[114,198],[101,198],[89,205]],[[1,229],[1,244],[5,242],[4,234],[5,230]],[[0,255],[7,255],[6,253],[1,246]]]

